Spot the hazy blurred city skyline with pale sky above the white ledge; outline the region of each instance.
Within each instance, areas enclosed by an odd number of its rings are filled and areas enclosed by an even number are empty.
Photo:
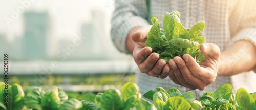
[[[42,8],[47,6],[45,2],[30,2],[29,0],[24,0],[23,2],[26,1],[25,5],[22,2],[19,4],[25,7],[24,12],[19,13],[22,8],[17,6],[16,12],[11,13],[9,17],[4,16],[3,18],[6,27],[8,27],[7,30],[12,31],[15,30],[12,27],[15,24],[20,24],[19,20],[22,20],[22,25],[19,25],[22,27],[18,28],[18,31],[21,32],[15,31],[10,33],[10,31],[0,31],[0,40],[3,42],[0,44],[3,48],[1,50],[10,53],[13,60],[62,60],[63,58],[65,60],[101,60],[127,58],[127,55],[120,54],[117,51],[110,38],[110,19],[114,1],[81,2],[81,4],[88,3],[84,4],[84,7],[89,6],[89,8],[84,8],[83,11],[75,11],[75,5],[81,6],[78,3],[67,6],[55,4],[62,8],[53,8],[51,6]],[[41,7],[35,8],[33,4],[41,4]],[[64,4],[68,4],[68,2],[65,1]],[[93,6],[90,6],[92,4]],[[28,6],[27,9],[26,6]],[[59,9],[58,11],[61,12],[65,7],[70,7],[76,13],[58,13],[56,11]],[[83,12],[86,17],[80,15]],[[59,15],[53,13],[58,13]],[[19,16],[16,20],[13,18],[15,14]],[[71,17],[65,18],[66,16]],[[8,22],[7,18],[14,21]],[[0,29],[3,27],[1,26]],[[9,38],[11,35],[14,37],[12,40]],[[76,42],[76,45],[74,42]]]

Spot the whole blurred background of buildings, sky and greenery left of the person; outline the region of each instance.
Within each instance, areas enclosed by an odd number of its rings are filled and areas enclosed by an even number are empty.
[[[101,92],[134,81],[132,56],[111,41],[114,8],[113,0],[1,1],[0,60],[8,54],[9,83]]]

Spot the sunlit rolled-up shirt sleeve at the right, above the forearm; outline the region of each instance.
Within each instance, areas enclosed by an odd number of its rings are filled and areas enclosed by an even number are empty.
[[[234,5],[229,18],[231,44],[239,40],[248,40],[256,46],[256,1],[239,1]],[[250,49],[249,47],[245,47]],[[249,50],[248,50],[249,51]],[[256,72],[256,66],[254,67]]]

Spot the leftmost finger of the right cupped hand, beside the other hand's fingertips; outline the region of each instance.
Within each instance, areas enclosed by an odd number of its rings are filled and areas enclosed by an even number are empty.
[[[189,88],[189,89],[191,89],[191,90],[195,90],[196,87],[194,87],[193,85],[187,83],[187,82],[185,81],[185,79],[183,78],[182,73],[180,72],[180,70],[179,70],[179,68],[178,68],[178,66],[177,66],[177,64],[176,64],[176,62],[174,61],[175,59],[178,60],[177,58],[180,58],[180,57],[174,57],[174,59],[171,59],[171,60],[169,61],[170,68],[173,70],[176,79],[177,79],[183,86],[185,86],[185,87],[187,87],[187,88]],[[181,58],[180,58],[180,59],[181,59]]]

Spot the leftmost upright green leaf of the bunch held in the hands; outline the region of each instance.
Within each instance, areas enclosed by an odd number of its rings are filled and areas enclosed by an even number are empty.
[[[153,17],[151,21],[153,26],[151,27],[150,32],[148,32],[147,40],[145,41],[145,46],[151,47],[152,50],[158,50],[162,48],[161,44],[164,42],[161,39],[160,23],[156,17]]]

